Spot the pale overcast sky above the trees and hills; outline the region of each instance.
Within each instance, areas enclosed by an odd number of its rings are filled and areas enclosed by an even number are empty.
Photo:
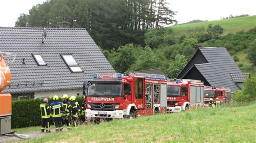
[[[13,27],[20,13],[29,13],[33,5],[46,0],[0,0],[0,26]],[[171,10],[177,11],[174,19],[179,23],[190,20],[218,20],[229,15],[256,15],[255,0],[167,0]]]

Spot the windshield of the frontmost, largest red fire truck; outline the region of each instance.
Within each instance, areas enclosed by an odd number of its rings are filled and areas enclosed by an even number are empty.
[[[88,89],[89,97],[121,97],[122,84],[93,83]]]

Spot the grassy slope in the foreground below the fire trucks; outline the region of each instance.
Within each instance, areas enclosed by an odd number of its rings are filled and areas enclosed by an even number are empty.
[[[25,142],[255,142],[256,103],[114,120]]]

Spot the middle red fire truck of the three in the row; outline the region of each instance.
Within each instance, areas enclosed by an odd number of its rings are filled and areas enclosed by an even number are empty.
[[[167,112],[185,111],[204,105],[204,84],[198,80],[167,82]]]

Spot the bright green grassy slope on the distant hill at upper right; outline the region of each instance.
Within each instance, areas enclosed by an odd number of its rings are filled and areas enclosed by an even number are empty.
[[[200,22],[200,23],[192,23],[192,24],[183,24],[183,25],[175,25],[170,26],[173,28],[174,35],[187,35],[190,34],[189,30],[195,27],[204,26],[207,29],[209,24],[212,25],[220,25],[225,29],[224,34],[227,33],[235,33],[241,30],[250,30],[251,28],[256,26],[256,15],[248,16],[248,17],[239,17],[239,18],[231,18],[224,20],[214,20],[210,22]]]

